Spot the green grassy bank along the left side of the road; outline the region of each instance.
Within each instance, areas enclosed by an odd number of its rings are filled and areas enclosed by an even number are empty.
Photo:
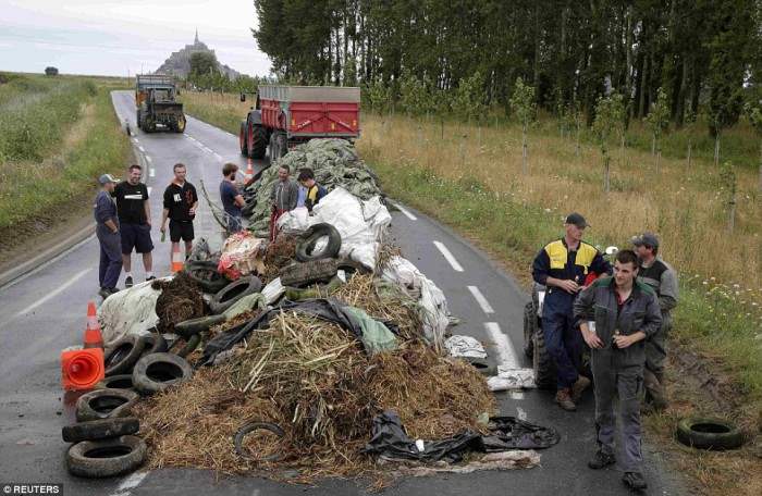
[[[0,251],[91,215],[97,177],[121,175],[131,153],[111,103],[119,80],[19,79],[0,85]]]

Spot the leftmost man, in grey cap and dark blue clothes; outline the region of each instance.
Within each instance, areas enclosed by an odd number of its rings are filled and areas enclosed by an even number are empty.
[[[95,218],[96,236],[100,245],[100,265],[98,270],[98,281],[100,290],[98,294],[108,298],[116,293],[116,282],[119,273],[122,271],[122,246],[119,235],[119,219],[116,216],[116,206],[111,199],[111,194],[116,185],[116,179],[111,174],[103,174],[98,179],[100,191],[96,197]]]

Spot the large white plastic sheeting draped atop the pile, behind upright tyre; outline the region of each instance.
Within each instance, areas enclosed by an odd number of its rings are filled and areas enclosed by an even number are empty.
[[[306,231],[312,224],[325,222],[342,236],[339,256],[366,268],[376,269],[376,260],[392,216],[381,203],[381,197],[361,200],[337,187],[324,196],[309,215],[306,208],[294,209],[278,220],[279,230]]]

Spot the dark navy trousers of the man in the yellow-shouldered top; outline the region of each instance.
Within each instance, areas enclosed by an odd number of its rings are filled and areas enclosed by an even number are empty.
[[[545,349],[555,362],[558,389],[572,387],[579,377],[582,335],[574,326],[573,302],[572,295],[553,294],[545,297],[542,308]]]

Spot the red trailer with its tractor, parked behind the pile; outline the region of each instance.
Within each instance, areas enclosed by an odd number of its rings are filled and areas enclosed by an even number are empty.
[[[245,101],[245,95],[241,96]],[[312,138],[360,135],[360,89],[336,86],[262,85],[257,102],[241,122],[241,153],[270,161]]]

